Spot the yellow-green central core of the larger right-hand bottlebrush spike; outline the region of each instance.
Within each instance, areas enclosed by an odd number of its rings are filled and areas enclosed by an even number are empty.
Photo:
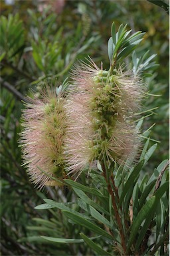
[[[109,140],[113,133],[118,111],[116,109],[115,85],[108,79],[108,71],[100,71],[93,77],[94,89],[90,99],[92,125],[97,133],[95,144],[101,144],[103,139]],[[101,149],[102,150],[102,149]]]

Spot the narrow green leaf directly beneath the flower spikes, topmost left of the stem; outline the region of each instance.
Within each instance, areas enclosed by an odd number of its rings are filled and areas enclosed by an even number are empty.
[[[99,197],[104,197],[104,195],[102,195],[100,190],[94,189],[92,187],[88,187],[88,186],[84,186],[76,181],[72,181],[71,179],[65,179],[64,180],[68,185],[72,186],[72,187],[76,187],[76,189],[80,189],[82,191],[88,192],[92,195],[96,195]]]

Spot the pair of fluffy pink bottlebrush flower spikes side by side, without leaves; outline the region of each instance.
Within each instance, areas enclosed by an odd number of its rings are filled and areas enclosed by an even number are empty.
[[[122,67],[99,69],[91,59],[76,67],[72,79],[66,97],[47,89],[23,111],[23,159],[40,188],[60,185],[65,175],[76,179],[96,161],[122,164],[137,153],[133,116],[143,95],[140,79]]]

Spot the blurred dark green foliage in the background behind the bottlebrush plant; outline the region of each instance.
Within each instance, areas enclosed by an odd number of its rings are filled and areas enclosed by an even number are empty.
[[[152,173],[169,157],[169,17],[165,9],[146,0],[1,1],[1,255],[90,255],[82,245],[56,245],[39,237],[60,233],[60,237],[76,238],[80,230],[66,223],[60,211],[34,209],[43,198],[60,202],[72,194],[50,187],[39,192],[29,182],[18,147],[21,101],[30,89],[37,93],[45,79],[55,86],[69,80],[72,65],[78,59],[86,61],[88,55],[108,69],[113,21],[116,26],[128,23],[133,32],[145,32],[137,55],[143,56],[148,49],[151,55],[157,54],[159,67],[145,80],[149,93],[160,96],[149,96],[144,107],[159,108],[143,125],[145,131],[155,123],[151,138],[160,141],[146,166]]]

